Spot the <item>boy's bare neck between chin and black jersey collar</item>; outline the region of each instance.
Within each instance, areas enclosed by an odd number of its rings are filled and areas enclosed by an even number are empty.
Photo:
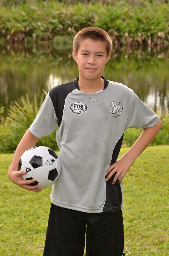
[[[96,93],[104,88],[104,79],[99,76],[96,79],[86,79],[79,74],[78,87],[84,93]]]

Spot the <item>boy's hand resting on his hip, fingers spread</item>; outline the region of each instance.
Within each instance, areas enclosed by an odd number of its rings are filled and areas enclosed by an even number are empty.
[[[131,165],[133,165],[134,163],[134,160],[132,161],[131,158],[129,159],[126,159],[126,158],[128,157],[125,157],[124,155],[123,157],[119,158],[115,163],[113,163],[113,165],[110,165],[106,173],[106,175],[108,175],[106,177],[106,181],[108,181],[116,172],[116,175],[112,181],[112,184],[115,184],[116,180],[120,175],[121,177],[120,177],[119,183],[122,182],[124,175],[130,169]]]

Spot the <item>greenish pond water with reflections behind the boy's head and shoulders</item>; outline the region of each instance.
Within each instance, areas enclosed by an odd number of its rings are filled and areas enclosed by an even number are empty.
[[[71,50],[0,48],[0,106],[77,78]],[[169,49],[113,49],[103,76],[122,82],[156,112],[169,110]]]

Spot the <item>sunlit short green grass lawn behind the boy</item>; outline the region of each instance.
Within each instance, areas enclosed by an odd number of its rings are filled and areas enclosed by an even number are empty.
[[[42,256],[51,187],[32,193],[11,183],[12,156],[0,155],[0,256]],[[125,175],[125,255],[169,255],[168,176],[169,146],[148,147]]]

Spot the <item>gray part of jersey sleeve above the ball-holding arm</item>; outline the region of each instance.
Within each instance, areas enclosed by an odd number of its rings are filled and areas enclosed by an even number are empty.
[[[57,122],[53,103],[48,93],[29,130],[34,136],[41,138],[52,133]]]

